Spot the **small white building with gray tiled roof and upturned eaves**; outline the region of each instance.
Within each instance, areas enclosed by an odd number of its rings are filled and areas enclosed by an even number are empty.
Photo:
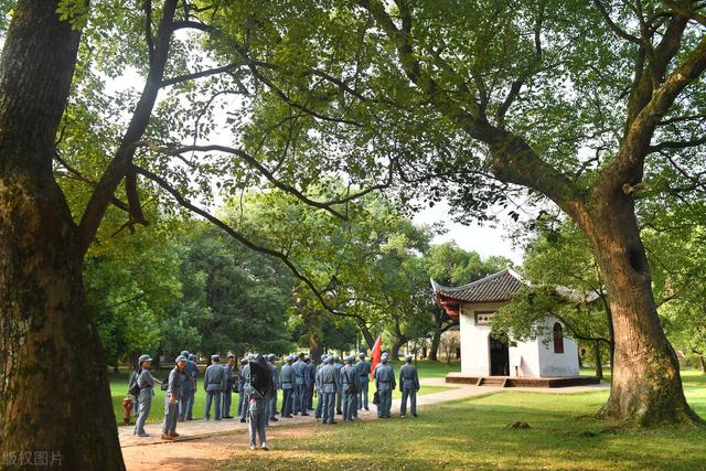
[[[547,314],[545,319],[546,331],[552,332],[548,339],[506,345],[492,338],[490,319],[527,286],[514,270],[507,268],[460,287],[435,280],[431,285],[439,306],[460,325],[461,374],[449,375],[447,382],[549,387],[592,383],[579,378],[578,347],[556,318]]]

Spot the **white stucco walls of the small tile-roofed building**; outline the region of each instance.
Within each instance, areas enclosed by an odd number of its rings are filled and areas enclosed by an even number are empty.
[[[459,318],[461,340],[461,373],[468,376],[490,375],[490,327],[475,325],[475,312],[494,311],[503,303],[463,304]],[[549,332],[557,320],[547,318]],[[564,338],[564,353],[554,353],[552,336],[545,345],[544,339],[516,342],[510,346],[510,375],[534,377],[578,376],[578,352],[576,342]],[[518,365],[517,368],[514,366]]]

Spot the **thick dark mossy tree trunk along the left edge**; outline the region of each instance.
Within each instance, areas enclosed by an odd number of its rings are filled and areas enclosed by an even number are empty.
[[[52,175],[79,41],[57,3],[21,0],[0,58],[0,456],[121,470],[82,247]]]

